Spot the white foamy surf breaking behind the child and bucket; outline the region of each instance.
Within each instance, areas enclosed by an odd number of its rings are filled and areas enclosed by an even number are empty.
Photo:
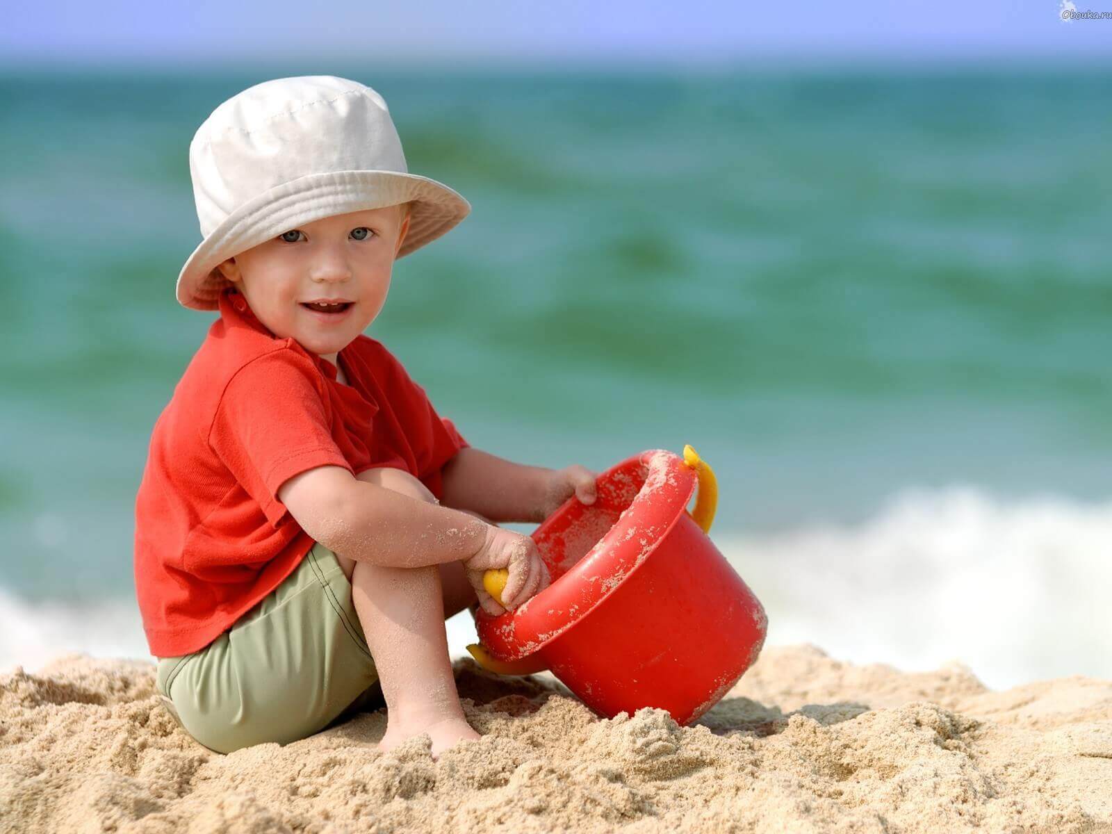
[[[711,535],[765,606],[770,645],[905,671],[956,661],[993,688],[1112,678],[1112,502],[910,489],[862,524]],[[447,631],[464,656],[470,616]],[[67,652],[149,658],[133,600],[75,606],[0,588],[0,669]]]

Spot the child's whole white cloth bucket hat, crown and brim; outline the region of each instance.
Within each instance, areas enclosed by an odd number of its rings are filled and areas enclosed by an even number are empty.
[[[216,269],[239,252],[331,215],[411,202],[403,257],[467,217],[470,203],[409,173],[386,101],[336,76],[278,78],[217,107],[189,143],[203,240],[178,276],[178,301],[218,308]]]

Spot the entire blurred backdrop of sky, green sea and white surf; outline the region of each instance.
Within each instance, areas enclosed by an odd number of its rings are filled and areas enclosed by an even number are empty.
[[[147,657],[135,495],[216,317],[173,295],[189,141],[246,87],[337,75],[473,205],[367,332],[474,446],[602,471],[692,444],[770,645],[995,688],[1112,677],[1112,20],[1062,11],[9,16],[0,669]]]

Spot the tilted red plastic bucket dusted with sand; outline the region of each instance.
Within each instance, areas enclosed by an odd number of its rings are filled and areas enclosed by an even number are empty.
[[[481,645],[542,661],[599,715],[698,718],[756,661],[767,618],[686,512],[696,486],[665,449],[603,473],[594,504],[573,496],[533,533],[553,582],[517,610],[479,609]]]

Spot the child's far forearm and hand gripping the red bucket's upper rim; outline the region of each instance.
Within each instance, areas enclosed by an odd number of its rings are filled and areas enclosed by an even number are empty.
[[[515,464],[467,446],[441,469],[441,504],[468,509],[495,524],[545,520],[573,493],[595,499],[595,473],[583,466],[546,469]]]

